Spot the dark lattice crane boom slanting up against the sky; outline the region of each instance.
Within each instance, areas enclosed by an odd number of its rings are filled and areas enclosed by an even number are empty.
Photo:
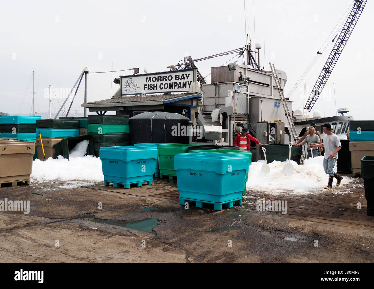
[[[325,63],[325,66],[319,74],[317,82],[314,85],[312,92],[310,93],[310,96],[306,102],[304,109],[306,109],[308,112],[312,110],[314,104],[316,103],[319,95],[322,92],[322,89],[324,89],[324,86],[332,70],[334,69],[336,62],[338,61],[340,54],[343,51],[350,34],[353,31],[353,28],[355,28],[355,25],[358,19],[360,18],[362,10],[364,10],[366,2],[367,0],[355,0],[355,4],[353,4],[352,11],[350,12],[347,21],[344,24],[344,27],[341,30],[340,35],[335,42],[334,48],[332,48],[332,51]]]

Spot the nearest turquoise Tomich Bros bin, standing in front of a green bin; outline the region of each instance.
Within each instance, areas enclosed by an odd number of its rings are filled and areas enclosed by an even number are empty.
[[[179,201],[196,202],[202,208],[204,203],[232,208],[242,204],[243,183],[248,172],[247,155],[230,153],[195,152],[175,154],[174,169],[177,173]]]

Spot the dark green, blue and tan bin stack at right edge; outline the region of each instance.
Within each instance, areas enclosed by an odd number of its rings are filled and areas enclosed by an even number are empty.
[[[374,121],[350,121],[349,130],[352,172],[360,174],[361,159],[374,156]]]

